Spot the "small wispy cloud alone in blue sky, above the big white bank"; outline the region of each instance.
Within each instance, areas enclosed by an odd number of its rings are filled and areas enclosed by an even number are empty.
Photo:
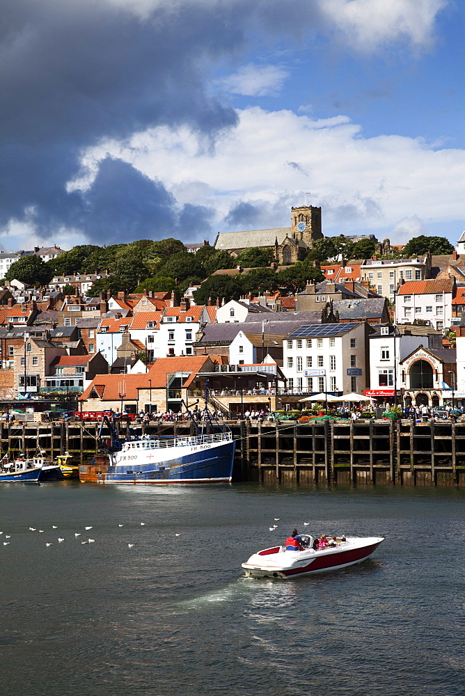
[[[277,97],[289,72],[278,65],[242,65],[237,72],[219,80],[230,94],[244,97]]]

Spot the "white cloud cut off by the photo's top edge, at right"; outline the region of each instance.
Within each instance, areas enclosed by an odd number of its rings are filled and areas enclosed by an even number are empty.
[[[413,47],[432,40],[436,16],[448,0],[318,0],[322,15],[354,47],[371,51],[407,40]]]

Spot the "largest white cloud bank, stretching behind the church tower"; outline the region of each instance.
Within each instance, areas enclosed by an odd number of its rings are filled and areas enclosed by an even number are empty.
[[[104,143],[88,161],[107,152],[122,157],[161,179],[182,203],[214,208],[219,229],[240,201],[260,209],[258,227],[287,224],[289,207],[303,203],[303,191],[310,191],[309,203],[322,206],[326,235],[384,235],[391,228],[402,242],[403,233],[407,238],[424,224],[464,216],[463,150],[435,150],[397,135],[365,139],[347,116],[325,122],[258,107],[238,115],[239,125],[213,153],[199,150],[188,129],[163,127],[134,136],[128,146]]]

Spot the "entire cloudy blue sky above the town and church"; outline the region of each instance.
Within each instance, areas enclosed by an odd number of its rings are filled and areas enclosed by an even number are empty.
[[[461,0],[3,0],[0,246],[465,229]]]

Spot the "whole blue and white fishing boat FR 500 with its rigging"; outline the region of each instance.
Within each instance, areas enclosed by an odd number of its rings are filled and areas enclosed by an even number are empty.
[[[189,413],[189,410],[187,411]],[[205,409],[202,428],[185,437],[139,437],[129,432],[120,438],[107,416],[100,425],[100,454],[79,466],[81,482],[173,484],[230,483],[235,441],[232,433],[213,422]],[[102,439],[104,425],[111,438]]]

